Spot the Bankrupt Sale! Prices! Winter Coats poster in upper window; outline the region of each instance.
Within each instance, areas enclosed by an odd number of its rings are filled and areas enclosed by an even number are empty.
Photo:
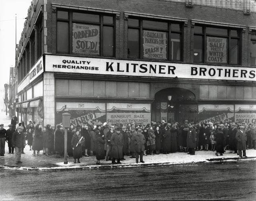
[[[227,63],[227,39],[207,36],[207,63]]]

